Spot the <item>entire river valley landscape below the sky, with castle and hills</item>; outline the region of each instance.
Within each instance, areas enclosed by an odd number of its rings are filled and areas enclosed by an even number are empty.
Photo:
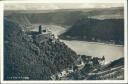
[[[122,7],[5,11],[4,79],[123,80],[123,19]]]

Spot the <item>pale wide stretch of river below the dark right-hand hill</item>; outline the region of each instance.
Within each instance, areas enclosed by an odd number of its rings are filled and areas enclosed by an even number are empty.
[[[122,45],[77,40],[61,41],[68,45],[71,49],[73,49],[77,54],[88,55],[92,57],[105,56],[106,63],[124,56],[124,47]]]

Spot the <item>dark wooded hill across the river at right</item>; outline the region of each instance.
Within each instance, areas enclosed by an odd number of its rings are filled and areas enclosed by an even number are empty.
[[[77,21],[67,32],[60,35],[60,38],[123,44],[124,20],[83,18]]]

